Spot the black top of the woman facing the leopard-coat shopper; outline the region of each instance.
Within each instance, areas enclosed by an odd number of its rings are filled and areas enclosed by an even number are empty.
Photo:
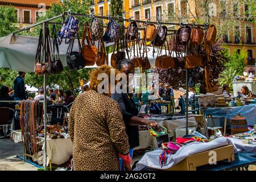
[[[128,94],[125,94],[125,93],[114,93],[111,95],[111,98],[117,101],[119,106],[122,109],[123,121],[125,122],[126,134],[128,135],[128,138],[129,138],[130,148],[139,146],[138,126],[131,126],[127,124],[127,122],[130,121],[131,117],[138,115],[138,110],[135,106],[135,103],[132,97],[129,97]]]

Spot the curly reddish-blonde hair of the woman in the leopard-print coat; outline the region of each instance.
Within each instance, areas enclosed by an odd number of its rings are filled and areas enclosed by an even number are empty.
[[[100,82],[103,81],[103,78],[102,78],[102,80],[98,80],[98,76],[102,73],[105,73],[106,75],[108,75],[109,85],[110,85],[111,69],[114,69],[114,68],[109,67],[108,65],[101,65],[101,67],[98,67],[98,68],[94,69],[92,71],[92,73],[90,73],[90,89],[95,90],[96,92],[98,92],[98,85],[100,84]],[[114,73],[115,73],[115,76],[116,76],[119,73],[119,71],[117,71],[117,69],[114,69]],[[115,81],[115,84],[117,84],[117,81]]]

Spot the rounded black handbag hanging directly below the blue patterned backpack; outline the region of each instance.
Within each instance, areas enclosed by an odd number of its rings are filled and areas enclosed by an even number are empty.
[[[77,35],[77,40],[79,43],[79,52],[72,51],[75,39],[71,39],[67,50],[67,65],[69,69],[82,69],[85,67],[85,60],[82,56],[82,48],[79,40],[79,36]]]

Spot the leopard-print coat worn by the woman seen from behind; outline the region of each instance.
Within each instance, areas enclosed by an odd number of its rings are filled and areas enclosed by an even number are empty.
[[[118,152],[127,154],[129,142],[117,102],[94,90],[80,94],[71,107],[68,129],[74,170],[118,171]]]

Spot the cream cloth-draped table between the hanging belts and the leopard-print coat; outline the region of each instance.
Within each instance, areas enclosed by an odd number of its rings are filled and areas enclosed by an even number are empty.
[[[70,138],[47,139],[46,150],[51,163],[60,165],[73,155],[73,143]]]

